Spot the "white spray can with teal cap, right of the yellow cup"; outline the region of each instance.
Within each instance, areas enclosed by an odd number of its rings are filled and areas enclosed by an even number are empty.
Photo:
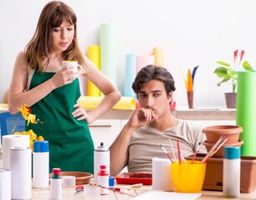
[[[241,158],[239,147],[225,147],[223,159],[223,196],[239,198]]]

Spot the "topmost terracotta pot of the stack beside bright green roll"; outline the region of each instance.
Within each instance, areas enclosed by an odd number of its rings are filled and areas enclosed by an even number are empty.
[[[242,132],[243,128],[235,125],[216,125],[202,129],[208,143],[216,143],[222,135],[228,138],[226,143],[238,143],[239,134]]]

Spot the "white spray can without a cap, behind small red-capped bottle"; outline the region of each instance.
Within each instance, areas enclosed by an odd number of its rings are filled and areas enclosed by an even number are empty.
[[[94,182],[98,184],[98,173],[100,172],[100,165],[105,165],[106,172],[110,174],[110,149],[100,143],[100,146],[95,149],[95,162],[94,162]]]

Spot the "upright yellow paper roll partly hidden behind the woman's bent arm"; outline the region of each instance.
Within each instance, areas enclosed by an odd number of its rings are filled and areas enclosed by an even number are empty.
[[[88,47],[87,57],[90,59],[91,62],[95,63],[96,67],[100,69],[100,47],[99,46]],[[94,83],[88,81],[87,95],[93,96],[93,97],[100,97],[100,89],[96,87]]]

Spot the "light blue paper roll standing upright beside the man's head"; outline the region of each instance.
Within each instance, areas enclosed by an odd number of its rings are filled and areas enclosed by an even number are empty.
[[[136,55],[128,54],[125,56],[125,97],[135,97],[135,92],[131,88],[132,82],[136,77]]]

